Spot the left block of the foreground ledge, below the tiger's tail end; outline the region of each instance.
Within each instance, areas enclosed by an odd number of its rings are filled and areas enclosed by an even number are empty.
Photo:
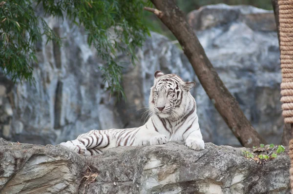
[[[54,146],[0,139],[1,194],[76,194],[85,158]]]

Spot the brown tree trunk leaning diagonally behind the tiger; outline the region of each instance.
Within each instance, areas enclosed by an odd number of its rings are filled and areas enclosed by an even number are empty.
[[[243,114],[238,102],[230,94],[174,0],[151,0],[160,10],[154,12],[178,39],[200,83],[233,134],[245,147],[266,143]]]

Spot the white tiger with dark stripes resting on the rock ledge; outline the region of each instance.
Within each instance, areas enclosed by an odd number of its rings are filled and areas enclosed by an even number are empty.
[[[196,102],[189,90],[195,82],[185,82],[175,74],[155,72],[150,89],[150,118],[138,128],[92,130],[61,145],[82,155],[97,155],[118,146],[164,144],[185,141],[194,150],[202,150],[205,143],[196,114]]]

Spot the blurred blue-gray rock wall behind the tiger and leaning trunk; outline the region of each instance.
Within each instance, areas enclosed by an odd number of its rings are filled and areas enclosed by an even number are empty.
[[[42,13],[42,10],[38,10]],[[39,42],[35,85],[13,84],[0,77],[0,136],[35,144],[57,144],[92,129],[136,127],[144,123],[153,73],[175,73],[195,80],[199,124],[207,142],[239,146],[215,110],[179,46],[151,33],[137,50],[134,67],[123,75],[127,101],[105,92],[98,66],[103,61],[89,48],[83,29],[47,17],[63,37],[63,47]],[[278,39],[272,11],[252,6],[210,5],[188,14],[212,64],[245,115],[268,142],[279,143],[283,128]]]

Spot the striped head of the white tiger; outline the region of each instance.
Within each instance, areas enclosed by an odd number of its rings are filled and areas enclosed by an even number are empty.
[[[185,82],[175,74],[164,75],[161,71],[156,71],[154,76],[149,96],[150,112],[161,118],[182,116],[190,95],[189,90],[195,86],[195,82]]]

